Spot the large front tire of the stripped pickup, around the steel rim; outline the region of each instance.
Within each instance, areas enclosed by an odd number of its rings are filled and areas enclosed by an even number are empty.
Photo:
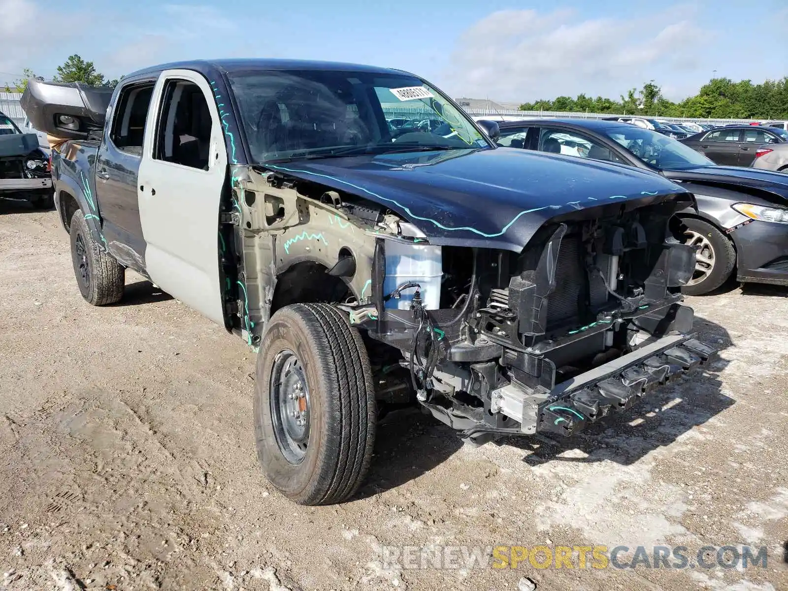
[[[307,390],[303,449],[295,452],[292,445],[282,443],[289,432],[282,411],[275,410],[282,408],[283,384],[292,382],[290,374],[278,373],[283,356],[297,359],[288,372],[299,374],[295,379],[305,381]],[[300,392],[299,383],[289,391]],[[347,500],[369,469],[376,414],[370,361],[347,314],[325,303],[278,310],[260,345],[255,392],[257,454],[270,483],[302,505]],[[303,454],[300,460],[288,459],[298,453]]]

